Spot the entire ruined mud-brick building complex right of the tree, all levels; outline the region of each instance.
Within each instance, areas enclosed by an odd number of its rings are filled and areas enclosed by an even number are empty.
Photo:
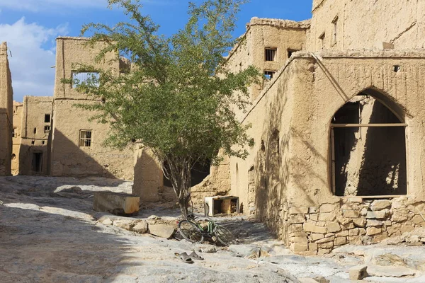
[[[253,18],[229,54],[264,72],[238,112],[255,145],[208,178],[296,252],[425,226],[424,5],[314,1],[310,23]]]

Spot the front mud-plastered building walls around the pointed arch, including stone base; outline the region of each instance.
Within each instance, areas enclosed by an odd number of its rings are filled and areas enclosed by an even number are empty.
[[[420,58],[424,55],[421,51],[361,55],[322,52],[317,57],[297,54],[278,72],[259,100],[254,101],[243,120],[251,123],[249,133],[256,145],[249,149],[246,160],[230,160],[232,195],[251,203],[249,195],[254,180],[256,197],[251,212],[300,253],[327,253],[345,243],[375,243],[398,234],[400,229],[409,231],[424,225],[419,214],[423,214],[425,201],[420,173],[425,166],[421,158],[425,152],[421,139],[425,134],[421,127],[425,111],[420,103],[424,87],[421,77],[425,74]],[[402,71],[395,69],[395,65]],[[371,182],[370,192],[363,197],[338,197],[332,192],[331,124],[335,113],[360,93],[385,103],[386,108],[402,118],[398,122],[407,124],[402,129],[408,138],[390,143],[401,152],[400,164],[405,156],[403,182],[408,184],[407,191],[389,193],[394,197],[386,197],[382,202],[365,198],[382,195],[382,188]],[[363,119],[373,122],[373,108],[376,109],[374,104],[369,110],[365,107]],[[364,143],[368,144],[368,132],[363,134]],[[383,141],[385,134],[375,134],[378,141]],[[364,158],[364,153],[358,156]],[[355,167],[351,168],[353,174],[361,170]],[[373,174],[373,169],[369,169],[367,180],[385,175],[379,170]],[[357,174],[361,178],[361,171]],[[406,197],[397,196],[403,194]],[[378,209],[375,202],[385,206]]]

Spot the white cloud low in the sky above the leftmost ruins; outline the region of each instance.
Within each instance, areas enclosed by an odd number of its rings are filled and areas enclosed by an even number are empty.
[[[0,41],[8,44],[13,99],[23,96],[52,96],[55,85],[55,38],[67,35],[67,25],[45,28],[21,18],[12,25],[0,24]],[[44,47],[47,46],[47,47]]]

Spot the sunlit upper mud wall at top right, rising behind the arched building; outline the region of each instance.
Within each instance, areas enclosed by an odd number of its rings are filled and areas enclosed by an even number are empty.
[[[424,9],[424,1],[314,0],[307,50],[424,48]]]

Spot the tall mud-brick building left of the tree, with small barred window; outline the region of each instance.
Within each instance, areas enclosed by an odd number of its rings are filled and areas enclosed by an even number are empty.
[[[95,64],[94,58],[104,45],[85,46],[84,37],[58,37],[56,54],[55,98],[52,122],[53,176],[95,175],[132,180],[134,152],[132,146],[120,151],[103,145],[108,137],[109,125],[89,122],[95,113],[76,108],[78,103],[101,103],[84,93],[78,93],[70,83],[77,69],[75,64],[90,64],[96,68],[120,72],[116,54],[106,54],[106,59]]]

